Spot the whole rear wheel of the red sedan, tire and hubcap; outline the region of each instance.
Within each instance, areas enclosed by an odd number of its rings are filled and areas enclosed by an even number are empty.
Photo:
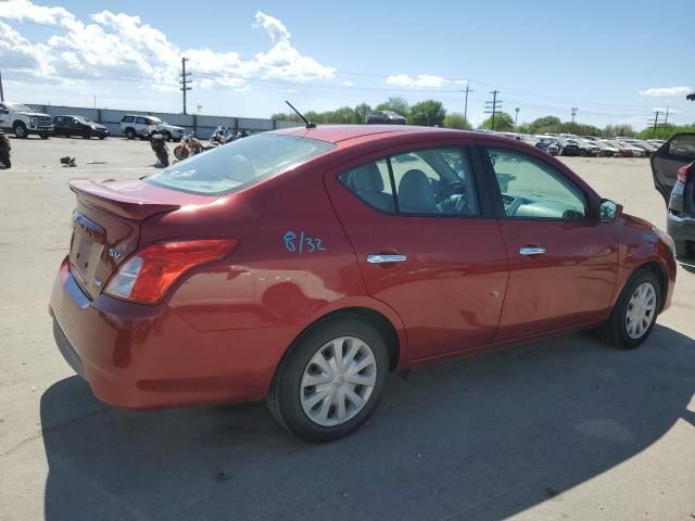
[[[376,328],[356,315],[309,329],[278,366],[266,402],[302,440],[325,443],[361,427],[376,408],[389,355]]]

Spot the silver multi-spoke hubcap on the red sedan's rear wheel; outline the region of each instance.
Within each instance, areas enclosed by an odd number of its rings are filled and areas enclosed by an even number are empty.
[[[377,360],[364,341],[354,336],[331,340],[304,369],[302,408],[314,423],[340,425],[364,408],[376,382]]]

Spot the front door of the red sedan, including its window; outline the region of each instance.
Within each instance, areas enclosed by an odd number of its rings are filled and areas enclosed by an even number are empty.
[[[509,282],[497,341],[522,339],[605,317],[617,281],[618,244],[589,196],[539,154],[495,144],[483,160],[496,181]],[[481,154],[482,155],[482,154]]]

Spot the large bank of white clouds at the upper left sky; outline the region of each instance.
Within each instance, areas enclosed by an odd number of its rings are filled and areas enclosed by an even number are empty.
[[[308,82],[332,78],[336,68],[302,54],[279,20],[261,11],[253,27],[270,40],[266,52],[248,60],[239,53],[207,48],[181,49],[139,16],[101,11],[83,22],[64,8],[48,8],[29,0],[0,2],[0,16],[63,27],[64,34],[33,42],[0,22],[0,62],[20,71],[23,79],[137,81],[161,91],[179,88],[181,56],[195,86],[249,90],[251,78]]]

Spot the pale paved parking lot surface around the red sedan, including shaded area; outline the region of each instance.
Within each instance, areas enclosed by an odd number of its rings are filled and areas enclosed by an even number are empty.
[[[47,313],[70,244],[67,180],[140,177],[156,160],[121,138],[12,145],[14,167],[0,170],[0,519],[695,518],[686,262],[635,351],[586,332],[428,366],[392,377],[355,434],[309,445],[262,404],[129,411],[91,395]],[[666,227],[648,160],[563,161]]]

